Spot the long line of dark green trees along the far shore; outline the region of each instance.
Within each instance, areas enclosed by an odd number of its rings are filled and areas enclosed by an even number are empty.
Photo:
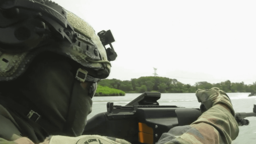
[[[183,84],[177,79],[167,77],[140,77],[131,80],[104,79],[99,83],[101,86],[107,86],[122,90],[126,93],[142,93],[142,92],[161,92],[161,93],[194,93],[197,89],[210,89],[218,87],[225,92],[256,92],[256,83],[246,85],[244,82],[231,83],[230,80],[211,84],[206,81],[196,82],[194,85]]]

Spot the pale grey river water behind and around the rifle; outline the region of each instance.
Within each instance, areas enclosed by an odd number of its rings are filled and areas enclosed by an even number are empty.
[[[256,104],[256,96],[248,97],[250,93],[227,93],[233,104],[235,112],[252,112],[253,104]],[[106,112],[107,102],[114,105],[126,105],[140,94],[126,94],[126,96],[94,97],[92,113],[88,118],[97,113]],[[187,108],[199,108],[195,93],[163,93],[158,100],[160,105],[176,105]],[[248,117],[248,126],[239,126],[239,135],[232,144],[253,144],[256,141],[256,117]]]

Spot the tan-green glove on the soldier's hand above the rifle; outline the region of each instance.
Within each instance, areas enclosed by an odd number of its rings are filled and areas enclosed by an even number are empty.
[[[228,95],[219,88],[213,87],[211,89],[198,89],[196,91],[196,97],[198,102],[202,103],[200,106],[201,110],[208,110],[216,104],[224,104],[231,111],[231,114],[235,116],[235,111],[232,107],[231,100],[229,99]]]

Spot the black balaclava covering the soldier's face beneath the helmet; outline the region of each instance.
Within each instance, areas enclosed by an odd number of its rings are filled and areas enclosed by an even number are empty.
[[[84,130],[92,111],[92,83],[75,79],[80,67],[67,57],[47,52],[38,55],[11,84],[15,97],[27,100],[41,115],[39,125],[51,135],[79,136]]]

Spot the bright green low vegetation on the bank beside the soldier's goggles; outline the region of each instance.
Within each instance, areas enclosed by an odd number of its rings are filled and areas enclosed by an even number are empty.
[[[124,96],[125,92],[122,90],[109,88],[107,86],[98,85],[95,96]]]

